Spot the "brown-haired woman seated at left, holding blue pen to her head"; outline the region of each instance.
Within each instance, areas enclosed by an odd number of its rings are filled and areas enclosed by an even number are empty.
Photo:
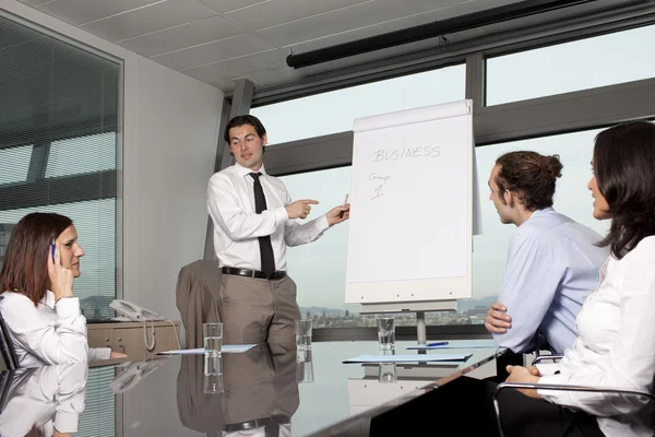
[[[0,271],[0,312],[21,367],[127,356],[88,347],[86,319],[73,295],[83,256],[67,216],[32,213],[13,228]]]

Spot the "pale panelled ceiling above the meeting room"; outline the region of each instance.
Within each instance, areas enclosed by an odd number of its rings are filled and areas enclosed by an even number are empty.
[[[325,62],[302,69],[287,67],[299,54],[434,21],[517,3],[520,0],[21,0],[39,11],[143,55],[202,82],[229,92],[234,81],[251,80],[272,87],[337,68],[414,51],[410,44],[392,50]],[[561,19],[588,13],[607,0],[570,8],[558,14],[527,19]],[[581,9],[583,8],[583,9]],[[496,25],[495,29],[517,26]],[[522,21],[525,25],[526,21]],[[477,37],[488,29],[468,32]]]

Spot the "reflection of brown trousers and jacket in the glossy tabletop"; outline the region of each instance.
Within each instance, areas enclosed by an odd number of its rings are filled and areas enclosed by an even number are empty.
[[[177,380],[180,422],[204,434],[290,436],[299,404],[296,345],[262,344],[221,359],[223,390],[207,392],[204,355],[182,357]]]

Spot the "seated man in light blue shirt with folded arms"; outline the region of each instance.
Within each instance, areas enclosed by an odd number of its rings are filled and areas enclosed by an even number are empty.
[[[489,199],[500,221],[517,229],[499,302],[487,311],[485,327],[500,347],[514,353],[563,353],[573,345],[577,312],[609,256],[595,245],[600,235],[551,208],[561,169],[557,155],[511,152],[496,161],[489,177]]]

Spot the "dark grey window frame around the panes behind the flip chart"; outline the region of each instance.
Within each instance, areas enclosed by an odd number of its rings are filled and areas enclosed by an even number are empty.
[[[572,40],[621,32],[655,24],[655,8],[623,7],[559,23],[508,32],[477,38],[475,45],[453,45],[446,54],[417,52],[369,64],[364,68],[325,73],[312,81],[286,86],[254,90],[242,105],[240,114],[249,107],[270,105],[287,99],[329,92],[371,81],[392,79],[436,68],[466,63],[466,98],[473,99],[473,125],[476,147],[531,138],[550,137],[587,129],[604,128],[632,119],[655,116],[655,78],[606,85],[595,88],[562,93],[545,97],[486,106],[486,59],[519,51],[552,46]],[[252,86],[248,80],[236,81],[234,95],[226,98],[234,104],[240,91]],[[245,106],[248,108],[245,109]],[[236,115],[236,114],[235,114]],[[219,141],[218,149],[222,147]],[[353,132],[307,138],[276,144],[266,151],[266,170],[274,176],[323,170],[352,165]],[[223,149],[225,168],[228,150]],[[227,163],[227,164],[226,164]],[[218,169],[218,168],[217,168]],[[211,234],[207,234],[207,243]],[[213,253],[211,255],[213,257]],[[427,327],[429,339],[489,338],[481,324],[452,324]],[[314,341],[374,340],[374,328],[321,328],[314,330]],[[400,327],[396,335],[416,339],[416,329]]]

